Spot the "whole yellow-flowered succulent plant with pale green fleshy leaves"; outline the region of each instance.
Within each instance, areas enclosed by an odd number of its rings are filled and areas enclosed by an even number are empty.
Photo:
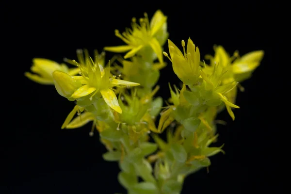
[[[33,59],[32,81],[54,85],[56,91],[76,105],[62,129],[75,129],[92,122],[90,135],[100,134],[108,152],[107,161],[117,161],[119,182],[130,194],[178,194],[184,178],[210,165],[209,157],[224,151],[213,147],[217,140],[217,113],[226,108],[234,120],[233,108],[239,82],[251,77],[264,52],[233,56],[222,46],[214,56],[200,58],[189,38],[181,41],[182,51],[168,38],[167,16],[158,10],[151,20],[147,14],[132,18],[132,28],[115,35],[126,45],[105,47],[105,51],[127,52],[107,64],[105,52],[77,50],[78,60],[65,59],[69,68],[47,59]],[[168,42],[168,52],[163,51]],[[172,64],[182,87],[171,86],[170,98],[156,97],[160,70]],[[157,124],[157,125],[156,125]],[[158,134],[166,131],[166,140]],[[140,179],[142,181],[140,181]]]

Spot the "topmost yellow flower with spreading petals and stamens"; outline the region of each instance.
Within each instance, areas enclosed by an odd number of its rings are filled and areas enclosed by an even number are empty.
[[[126,32],[123,32],[122,34],[120,34],[118,30],[115,30],[115,35],[123,40],[127,45],[105,47],[104,49],[112,52],[129,51],[124,56],[124,58],[127,59],[135,55],[144,47],[150,46],[156,53],[160,63],[162,63],[162,44],[158,41],[161,34],[158,34],[157,37],[156,35],[160,30],[164,29],[166,20],[167,17],[164,16],[160,10],[155,13],[150,23],[146,13],[144,18],[140,18],[140,25],[137,24],[136,18],[133,17],[131,25],[132,30],[126,29]],[[166,33],[163,34],[167,35]]]

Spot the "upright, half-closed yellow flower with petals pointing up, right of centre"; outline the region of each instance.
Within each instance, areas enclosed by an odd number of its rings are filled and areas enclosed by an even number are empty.
[[[195,47],[193,41],[189,38],[187,43],[187,51],[185,51],[185,41],[182,40],[184,54],[178,47],[168,40],[169,52],[171,58],[166,52],[163,54],[172,62],[173,70],[178,78],[186,85],[193,85],[198,81],[200,76],[200,52],[198,47]]]

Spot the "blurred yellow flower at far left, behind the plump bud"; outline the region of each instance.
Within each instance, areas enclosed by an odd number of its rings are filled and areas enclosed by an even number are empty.
[[[32,62],[31,71],[35,74],[25,72],[24,75],[40,84],[53,85],[52,72],[56,70],[63,71],[70,76],[77,75],[80,71],[79,68],[68,68],[65,64],[58,64],[48,59],[34,58]]]

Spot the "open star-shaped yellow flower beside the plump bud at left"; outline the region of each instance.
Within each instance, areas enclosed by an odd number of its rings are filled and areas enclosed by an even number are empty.
[[[122,110],[112,88],[114,86],[129,87],[140,85],[135,82],[118,80],[116,76],[112,77],[110,66],[104,69],[102,65],[94,63],[92,59],[90,61],[87,60],[85,64],[78,64],[78,66],[81,70],[81,76],[73,76],[73,78],[81,81],[83,85],[71,97],[80,98],[93,93],[90,97],[92,100],[93,96],[100,93],[106,104],[118,113],[122,113]]]

